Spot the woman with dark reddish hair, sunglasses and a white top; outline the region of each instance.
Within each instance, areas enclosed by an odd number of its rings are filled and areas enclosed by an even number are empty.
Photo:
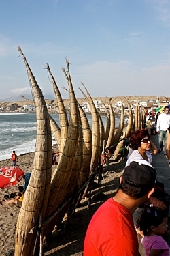
[[[126,166],[130,165],[132,161],[146,160],[152,165],[152,155],[150,153],[151,147],[154,147],[153,153],[156,154],[158,150],[154,143],[150,141],[150,134],[148,130],[136,130],[131,134],[130,145],[133,152],[129,156]]]

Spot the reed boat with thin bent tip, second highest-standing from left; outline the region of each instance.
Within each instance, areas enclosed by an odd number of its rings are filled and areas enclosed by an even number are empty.
[[[48,63],[46,64],[46,69],[48,70],[50,77],[52,79],[54,94],[55,94],[56,100],[57,100],[58,113],[59,113],[59,119],[60,119],[60,128],[61,128],[61,146],[60,146],[61,148],[60,148],[60,150],[63,152],[63,148],[65,147],[65,141],[67,138],[69,122],[67,119],[67,113],[65,111],[65,105],[63,103],[63,98],[61,97],[61,93],[58,89],[58,86],[56,84],[54,76],[52,75],[52,72],[50,70],[50,66],[48,65]]]

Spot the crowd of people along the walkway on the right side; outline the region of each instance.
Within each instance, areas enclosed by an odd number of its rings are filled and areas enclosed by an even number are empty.
[[[155,132],[151,132],[154,127]],[[84,240],[84,256],[140,255],[137,230],[146,256],[170,255],[163,235],[167,233],[170,196],[156,180],[152,154],[163,151],[170,162],[170,115],[164,113],[148,116],[146,127],[131,134],[126,166],[114,197],[107,199],[92,216]],[[151,134],[158,133],[158,144]],[[164,140],[164,142],[163,142]],[[133,214],[141,208],[137,226]]]

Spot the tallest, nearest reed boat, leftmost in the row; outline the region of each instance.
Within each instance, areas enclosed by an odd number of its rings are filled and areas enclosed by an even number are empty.
[[[36,233],[31,234],[29,231],[38,223],[40,212],[42,213],[42,219],[44,219],[50,194],[52,137],[48,110],[41,89],[39,89],[20,47],[18,47],[18,51],[24,59],[33,92],[37,115],[37,139],[33,171],[16,225],[15,256],[32,256]]]

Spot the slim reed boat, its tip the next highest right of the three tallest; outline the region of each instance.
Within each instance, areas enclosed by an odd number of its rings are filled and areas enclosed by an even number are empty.
[[[82,94],[84,97],[88,100],[88,104],[90,105],[90,111],[92,114],[92,157],[91,157],[91,163],[90,163],[90,174],[95,171],[95,168],[97,167],[98,158],[100,154],[100,129],[99,129],[99,113],[97,112],[97,109],[95,107],[95,104],[88,93],[88,90],[82,83],[84,89],[86,90],[86,95],[82,91]]]

